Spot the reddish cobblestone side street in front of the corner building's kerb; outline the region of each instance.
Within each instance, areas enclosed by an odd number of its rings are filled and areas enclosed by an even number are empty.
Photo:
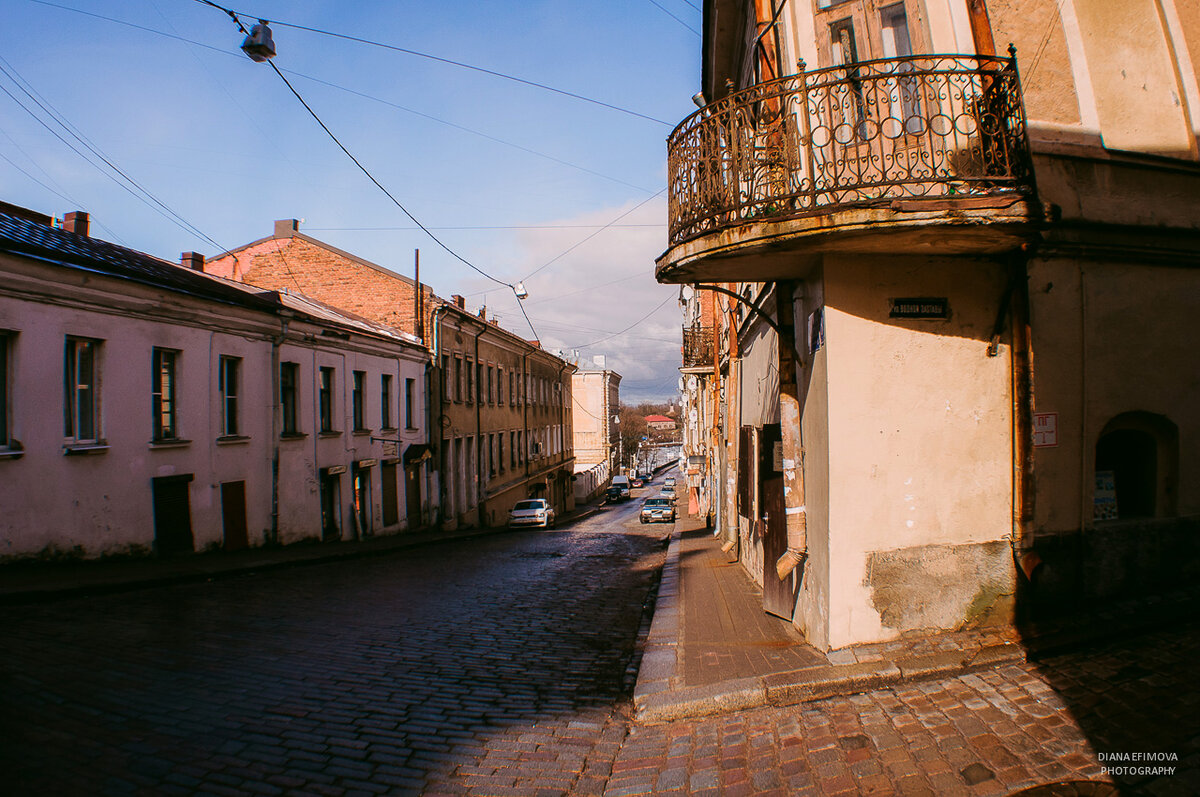
[[[1031,793],[1198,795],[1198,657],[1190,625],[956,678],[635,727],[605,793],[1008,795],[1091,780]]]

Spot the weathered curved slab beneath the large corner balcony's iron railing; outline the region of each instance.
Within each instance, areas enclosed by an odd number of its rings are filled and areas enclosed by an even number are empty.
[[[1032,240],[1039,216],[1020,193],[827,209],[692,238],[658,259],[655,277],[664,283],[803,278],[830,254],[988,257]]]

